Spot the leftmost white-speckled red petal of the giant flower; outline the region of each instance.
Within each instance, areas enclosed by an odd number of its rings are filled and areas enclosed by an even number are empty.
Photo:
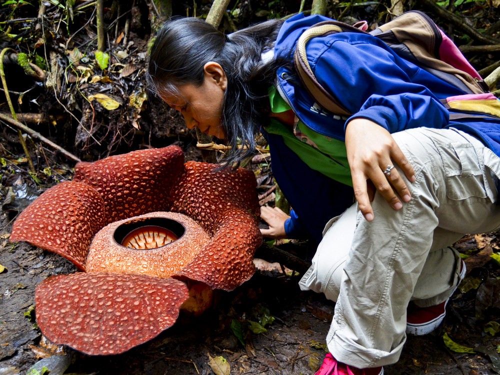
[[[12,225],[11,241],[56,252],[84,269],[93,235],[104,226],[104,202],[87,184],[61,182],[37,197]]]

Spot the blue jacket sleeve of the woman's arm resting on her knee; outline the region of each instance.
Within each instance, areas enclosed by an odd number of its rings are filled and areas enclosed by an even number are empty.
[[[428,88],[446,91],[444,83],[376,37],[343,32],[313,38],[309,54],[316,56],[309,64],[320,84],[353,113],[349,120],[367,118],[389,132],[447,125],[447,109]]]

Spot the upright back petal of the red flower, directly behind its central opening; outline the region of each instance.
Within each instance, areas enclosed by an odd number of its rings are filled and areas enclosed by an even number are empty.
[[[178,146],[131,151],[95,162],[79,162],[74,181],[94,187],[104,199],[106,223],[151,211],[169,211],[170,190],[182,172]]]

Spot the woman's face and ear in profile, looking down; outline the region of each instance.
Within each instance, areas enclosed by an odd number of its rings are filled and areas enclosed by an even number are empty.
[[[177,87],[180,96],[162,94],[161,98],[182,113],[186,126],[195,127],[205,134],[225,138],[221,125],[222,104],[227,85],[225,73],[216,62],[207,62],[200,86],[183,84]]]

